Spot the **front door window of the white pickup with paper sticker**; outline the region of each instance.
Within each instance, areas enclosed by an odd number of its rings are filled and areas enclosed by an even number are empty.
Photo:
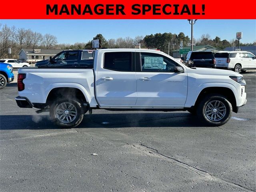
[[[141,68],[144,72],[174,72],[175,61],[154,53],[141,53]]]

